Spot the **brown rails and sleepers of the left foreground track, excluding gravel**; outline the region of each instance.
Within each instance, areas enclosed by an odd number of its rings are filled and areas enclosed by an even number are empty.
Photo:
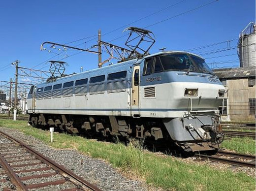
[[[4,135],[4,137],[13,141],[12,146],[11,146],[11,144],[8,144],[8,146],[0,147],[1,152],[6,150],[7,148],[17,149],[17,144],[18,144],[20,146],[20,148],[24,148],[26,150],[26,152],[28,154],[30,154],[30,156],[33,156],[35,159],[40,160],[41,161],[40,163],[43,163],[43,164],[47,165],[47,167],[45,167],[45,168],[36,168],[36,169],[14,171],[12,169],[13,167],[35,165],[35,164],[38,164],[38,162],[37,163],[21,164],[21,165],[10,165],[6,161],[6,159],[8,159],[8,157],[4,158],[4,156],[0,155],[0,163],[4,167],[7,175],[11,178],[11,181],[16,186],[17,190],[27,191],[28,189],[41,188],[41,187],[46,187],[46,186],[49,186],[49,185],[61,185],[61,184],[64,184],[66,181],[70,181],[73,185],[76,186],[76,188],[72,188],[70,190],[101,191],[96,186],[94,186],[94,185],[90,184],[89,182],[85,181],[83,178],[75,175],[70,170],[65,169],[63,166],[57,164],[53,160],[43,156],[42,154],[38,153],[35,150],[33,150],[30,146],[26,145],[25,143],[15,139],[14,137],[11,137],[10,135],[8,135],[8,134],[6,134],[2,131],[0,131],[0,134]],[[14,153],[15,153],[15,151],[14,151]],[[14,154],[14,153],[11,153],[11,154]],[[16,151],[16,154],[17,154],[17,151]],[[24,152],[21,152],[19,154],[24,154]],[[5,155],[5,156],[7,156],[7,155]],[[15,159],[15,158],[17,158],[17,160],[14,160],[10,163],[21,161],[21,159],[19,159],[18,157],[12,157],[12,159]],[[28,159],[28,161],[29,161],[29,159]],[[33,175],[33,176],[22,177],[22,178],[19,178],[17,176],[18,173],[22,173],[22,172],[44,171],[44,170],[50,170],[50,169],[53,169],[55,171],[55,173],[46,173],[46,174]],[[22,182],[22,181],[29,180],[29,179],[50,177],[50,176],[54,176],[54,175],[57,175],[57,174],[62,175],[63,179],[58,180],[58,181],[53,181],[53,182],[45,182],[45,183],[30,184],[30,185],[24,185],[24,183]]]

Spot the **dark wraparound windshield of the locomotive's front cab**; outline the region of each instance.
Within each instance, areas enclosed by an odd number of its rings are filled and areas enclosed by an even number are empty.
[[[155,67],[152,68],[155,63]],[[153,73],[161,71],[185,71],[189,72],[199,72],[199,73],[209,73],[214,75],[212,70],[208,67],[205,61],[197,56],[190,54],[164,54],[154,58],[150,58],[145,61],[146,70],[144,75],[147,75],[152,69]],[[148,68],[150,67],[150,68]],[[151,72],[150,72],[151,73]]]

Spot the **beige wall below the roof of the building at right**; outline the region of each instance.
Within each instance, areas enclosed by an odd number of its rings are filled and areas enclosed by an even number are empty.
[[[248,86],[248,79],[227,79],[227,115],[224,122],[255,122],[255,115],[250,115],[249,98],[256,97],[256,87]]]

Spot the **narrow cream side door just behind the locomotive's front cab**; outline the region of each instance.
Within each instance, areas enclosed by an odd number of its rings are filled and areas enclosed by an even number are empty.
[[[140,68],[139,65],[133,67],[132,72],[132,94],[131,94],[131,114],[133,117],[140,116]]]

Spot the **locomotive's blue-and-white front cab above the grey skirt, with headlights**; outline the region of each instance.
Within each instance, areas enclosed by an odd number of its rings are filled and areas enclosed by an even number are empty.
[[[225,90],[204,59],[186,52],[167,52],[146,57],[140,85],[142,93],[145,88],[154,87],[154,98],[158,102],[155,106],[158,109],[184,112],[218,110]],[[145,97],[145,94],[141,97],[142,104],[144,98],[150,98]],[[146,101],[141,106],[147,107]]]

